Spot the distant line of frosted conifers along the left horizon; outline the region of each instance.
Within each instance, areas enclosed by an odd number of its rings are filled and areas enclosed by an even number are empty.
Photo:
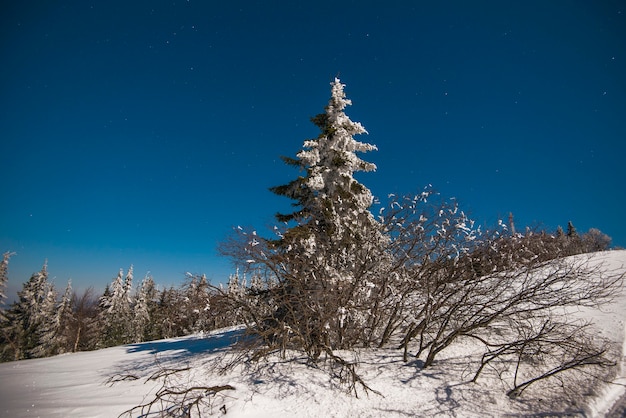
[[[9,259],[0,264],[4,290]],[[178,337],[239,322],[236,312],[220,309],[222,296],[241,294],[245,277],[231,275],[228,284],[210,286],[206,276],[189,275],[178,288],[159,290],[151,276],[133,286],[132,266],[120,270],[100,296],[93,288],[77,293],[71,282],[59,293],[48,280],[47,263],[0,309],[1,361],[47,357],[121,344]],[[4,301],[5,294],[2,293]]]

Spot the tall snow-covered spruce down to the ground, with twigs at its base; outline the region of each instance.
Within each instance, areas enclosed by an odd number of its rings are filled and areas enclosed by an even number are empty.
[[[344,85],[335,79],[331,86],[325,112],[312,118],[319,136],[296,158],[283,157],[303,175],[270,189],[292,199],[295,211],[276,215],[283,225],[276,239],[242,231],[242,241],[224,251],[265,272],[266,291],[256,293],[266,306],[250,312],[250,323],[264,324],[270,347],[300,349],[313,359],[377,338],[372,312],[389,263],[388,238],[369,211],[372,193],[354,178],[376,169],[357,155],[376,147],[354,138],[366,130],[345,113],[351,101]]]

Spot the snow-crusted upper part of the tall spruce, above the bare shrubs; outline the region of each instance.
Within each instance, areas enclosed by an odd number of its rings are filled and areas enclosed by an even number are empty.
[[[306,175],[271,190],[295,200],[294,206],[299,207],[296,212],[278,214],[279,221],[295,221],[299,227],[307,225],[312,230],[321,228],[326,239],[341,240],[351,228],[358,231],[364,222],[375,223],[368,210],[373,202],[372,193],[354,178],[354,173],[376,169],[374,164],[357,155],[376,150],[376,146],[354,139],[355,135],[367,131],[344,112],[346,106],[352,104],[346,99],[345,85],[336,78],[331,86],[332,96],[326,111],[312,118],[320,135],[305,141],[296,159],[283,158]],[[299,232],[299,228],[295,231]],[[314,235],[304,234],[302,245],[315,246],[315,239],[311,239]]]

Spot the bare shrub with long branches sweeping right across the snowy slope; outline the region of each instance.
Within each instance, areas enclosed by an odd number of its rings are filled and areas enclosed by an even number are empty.
[[[421,321],[403,341],[406,349],[408,340],[417,338],[416,355],[426,354],[425,366],[460,336],[548,317],[559,308],[595,307],[611,300],[622,283],[622,276],[577,259],[529,262],[482,276],[472,271],[468,256],[442,263],[437,274],[426,278],[416,312]]]

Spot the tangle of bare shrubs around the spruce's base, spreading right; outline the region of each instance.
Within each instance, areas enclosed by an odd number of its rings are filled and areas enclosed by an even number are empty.
[[[223,306],[240,312],[248,327],[242,347],[250,359],[301,352],[331,374],[352,376],[345,382],[353,390],[368,386],[358,362],[340,350],[395,342],[405,361],[412,353],[430,367],[461,338],[474,338],[485,350],[474,380],[487,366],[515,363],[511,396],[572,370],[614,364],[608,343],[589,324],[563,314],[610,302],[623,275],[584,256],[565,257],[545,232],[510,236],[503,225],[483,232],[456,201],[430,190],[392,199],[379,220],[390,238],[385,255],[355,249],[353,259],[364,261],[347,270],[357,278],[350,285],[320,273],[336,262],[339,248],[291,258],[254,231],[236,230],[223,253],[263,278],[255,290],[223,295]]]

